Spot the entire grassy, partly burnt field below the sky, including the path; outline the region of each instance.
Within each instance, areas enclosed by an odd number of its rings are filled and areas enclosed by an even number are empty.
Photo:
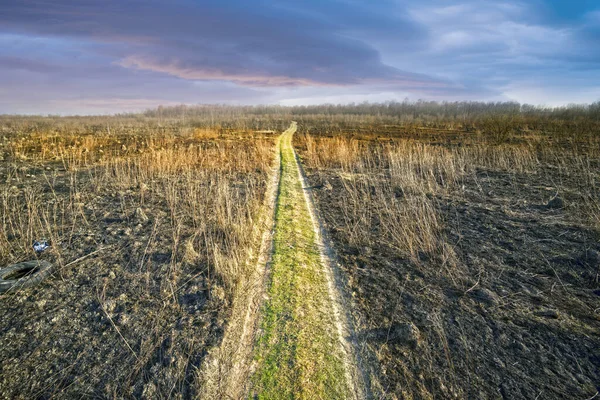
[[[0,397],[593,398],[594,110],[0,117]]]

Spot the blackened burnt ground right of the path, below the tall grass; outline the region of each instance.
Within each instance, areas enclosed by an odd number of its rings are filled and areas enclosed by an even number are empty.
[[[386,397],[600,391],[600,231],[582,222],[577,177],[478,169],[463,189],[434,198],[458,260],[450,266],[426,254],[411,261],[378,240],[385,221],[350,245],[343,176],[307,172]],[[558,179],[562,204],[549,203]]]

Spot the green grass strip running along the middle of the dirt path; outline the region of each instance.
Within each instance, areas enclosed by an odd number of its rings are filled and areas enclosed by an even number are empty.
[[[250,397],[354,398],[319,237],[292,147],[280,138],[281,175],[267,300]]]

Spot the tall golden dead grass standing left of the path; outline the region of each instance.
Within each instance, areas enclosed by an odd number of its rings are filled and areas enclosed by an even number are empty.
[[[85,206],[107,192],[127,197],[123,209],[166,203],[171,229],[193,227],[194,246],[208,249],[211,273],[230,290],[247,248],[245,230],[262,201],[273,142],[217,136],[203,129],[148,138],[35,134],[11,142],[14,162],[0,192],[3,261],[29,255],[25,250],[35,238],[71,242],[75,226],[89,225]]]

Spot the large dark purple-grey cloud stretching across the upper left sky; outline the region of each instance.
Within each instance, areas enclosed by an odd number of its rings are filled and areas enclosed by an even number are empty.
[[[11,2],[9,2],[11,3]],[[315,7],[312,12],[263,3],[204,1],[12,2],[0,8],[0,23],[38,35],[81,38],[114,44],[103,51],[118,65],[191,80],[227,80],[248,86],[321,86],[389,82],[393,85],[446,85],[422,74],[381,62],[364,41],[342,33],[373,31],[410,35],[404,24],[367,7]],[[342,4],[338,3],[341,7]],[[375,7],[372,7],[373,9]],[[354,12],[352,10],[355,10]],[[396,21],[398,22],[398,21]]]

